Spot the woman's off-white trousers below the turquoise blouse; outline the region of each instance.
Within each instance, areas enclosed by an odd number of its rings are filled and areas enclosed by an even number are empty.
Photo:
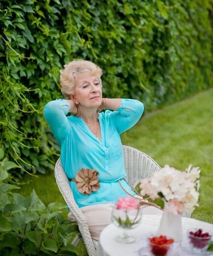
[[[93,240],[98,241],[101,231],[109,225],[111,221],[112,209],[115,204],[94,204],[81,207],[83,215],[86,216],[87,224],[89,226],[89,232]],[[162,214],[162,210],[148,206],[141,207],[141,212],[143,214]],[[69,212],[68,219],[71,221],[76,221],[75,216],[72,212]]]

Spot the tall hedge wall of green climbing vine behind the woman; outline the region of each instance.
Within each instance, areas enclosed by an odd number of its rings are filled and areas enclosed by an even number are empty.
[[[104,95],[146,110],[212,86],[212,14],[212,0],[2,0],[0,145],[16,174],[54,168],[43,107],[74,58],[103,69]]]

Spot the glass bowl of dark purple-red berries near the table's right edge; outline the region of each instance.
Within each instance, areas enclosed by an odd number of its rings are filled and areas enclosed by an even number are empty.
[[[187,231],[188,241],[196,252],[205,251],[212,235],[204,230],[193,228]]]

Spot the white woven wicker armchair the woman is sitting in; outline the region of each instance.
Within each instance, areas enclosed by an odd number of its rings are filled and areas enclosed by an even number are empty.
[[[158,172],[161,170],[161,167],[158,166],[158,164],[151,157],[149,157],[142,151],[125,145],[123,145],[123,148],[127,180],[132,187],[135,188],[135,186],[140,182],[141,179],[144,179],[146,177],[152,177],[154,172]],[[69,179],[64,172],[60,158],[55,165],[55,179],[58,184],[58,188],[63,195],[64,200],[66,201],[66,204],[77,219],[78,227],[81,232],[83,241],[86,245],[89,256],[95,256],[95,246],[89,233],[89,227],[86,222],[86,217],[83,215],[81,209],[75,202],[72,194],[72,189],[69,185]],[[186,213],[183,213],[182,215],[187,216]],[[190,217],[190,215],[187,217]],[[76,246],[79,241],[79,236],[76,236],[72,244]]]

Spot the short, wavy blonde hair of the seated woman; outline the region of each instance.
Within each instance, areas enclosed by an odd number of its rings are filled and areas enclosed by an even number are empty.
[[[81,75],[97,76],[99,84],[101,84],[102,70],[92,61],[84,61],[76,59],[63,66],[60,70],[60,86],[64,96],[75,94],[75,77]]]

